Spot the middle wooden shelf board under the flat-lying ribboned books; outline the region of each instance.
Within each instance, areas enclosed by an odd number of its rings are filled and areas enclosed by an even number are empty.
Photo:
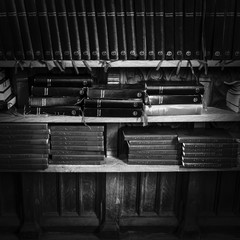
[[[231,110],[209,107],[199,115],[177,115],[177,116],[150,116],[149,123],[157,122],[238,122],[240,114]],[[0,122],[6,123],[143,123],[142,118],[113,118],[113,117],[85,117],[81,116],[50,116],[50,115],[22,115],[12,113],[1,113]]]

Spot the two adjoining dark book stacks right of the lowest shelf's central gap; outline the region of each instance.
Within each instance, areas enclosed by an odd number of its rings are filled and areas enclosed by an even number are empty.
[[[123,155],[128,164],[236,167],[239,143],[223,129],[173,130],[125,127]]]

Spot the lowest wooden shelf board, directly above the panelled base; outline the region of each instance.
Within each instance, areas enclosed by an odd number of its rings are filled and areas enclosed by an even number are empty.
[[[128,165],[122,160],[107,157],[101,165],[49,165],[45,170],[0,170],[0,172],[212,172],[212,171],[240,171],[235,168],[184,168],[177,165]]]

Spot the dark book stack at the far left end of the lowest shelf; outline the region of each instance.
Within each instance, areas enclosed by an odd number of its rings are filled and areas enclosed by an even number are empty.
[[[0,124],[0,169],[46,169],[49,152],[47,124]]]

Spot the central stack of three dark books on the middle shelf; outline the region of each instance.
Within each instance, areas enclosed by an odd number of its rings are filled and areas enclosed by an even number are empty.
[[[104,85],[87,89],[84,99],[86,117],[141,117],[144,85]]]

